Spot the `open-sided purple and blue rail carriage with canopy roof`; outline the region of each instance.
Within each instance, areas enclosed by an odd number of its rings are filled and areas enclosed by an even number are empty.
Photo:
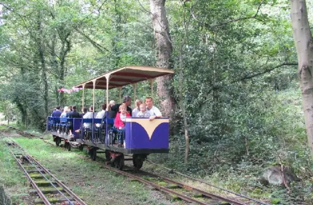
[[[93,89],[93,107],[95,98],[95,89],[106,90],[106,101],[109,104],[109,90],[121,88],[125,85],[132,84],[134,87],[134,99],[136,98],[136,83],[149,81],[151,92],[153,92],[153,79],[156,77],[173,74],[169,69],[146,67],[146,66],[125,66],[107,72],[101,76],[82,82],[74,87],[83,89],[83,106],[85,89]],[[120,95],[121,98],[121,95]],[[64,119],[65,120],[65,119]],[[114,129],[114,119],[69,119],[68,123],[62,124],[61,119],[48,117],[47,129],[52,131],[54,138],[63,139],[66,143],[75,141],[79,147],[87,146],[90,157],[95,160],[98,149],[105,150],[106,158],[118,169],[124,165],[124,154],[133,155],[133,164],[140,169],[148,154],[151,153],[168,153],[169,151],[169,119],[156,118],[149,121],[148,118],[127,118],[125,123],[124,147],[118,147],[114,143],[114,137],[121,132]],[[89,123],[86,128],[83,124]],[[70,124],[70,125],[66,125]],[[73,132],[72,137],[67,135],[70,128],[73,130],[80,129],[80,133]],[[62,128],[62,132],[57,132]],[[56,142],[56,144],[58,145]],[[66,144],[68,146],[68,143]],[[70,145],[69,145],[70,146]]]

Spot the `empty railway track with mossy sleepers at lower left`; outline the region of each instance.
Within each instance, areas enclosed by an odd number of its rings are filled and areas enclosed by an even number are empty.
[[[30,195],[40,197],[35,199],[36,205],[87,205],[45,166],[25,152],[19,144],[6,142],[6,146],[34,188],[30,191]]]

